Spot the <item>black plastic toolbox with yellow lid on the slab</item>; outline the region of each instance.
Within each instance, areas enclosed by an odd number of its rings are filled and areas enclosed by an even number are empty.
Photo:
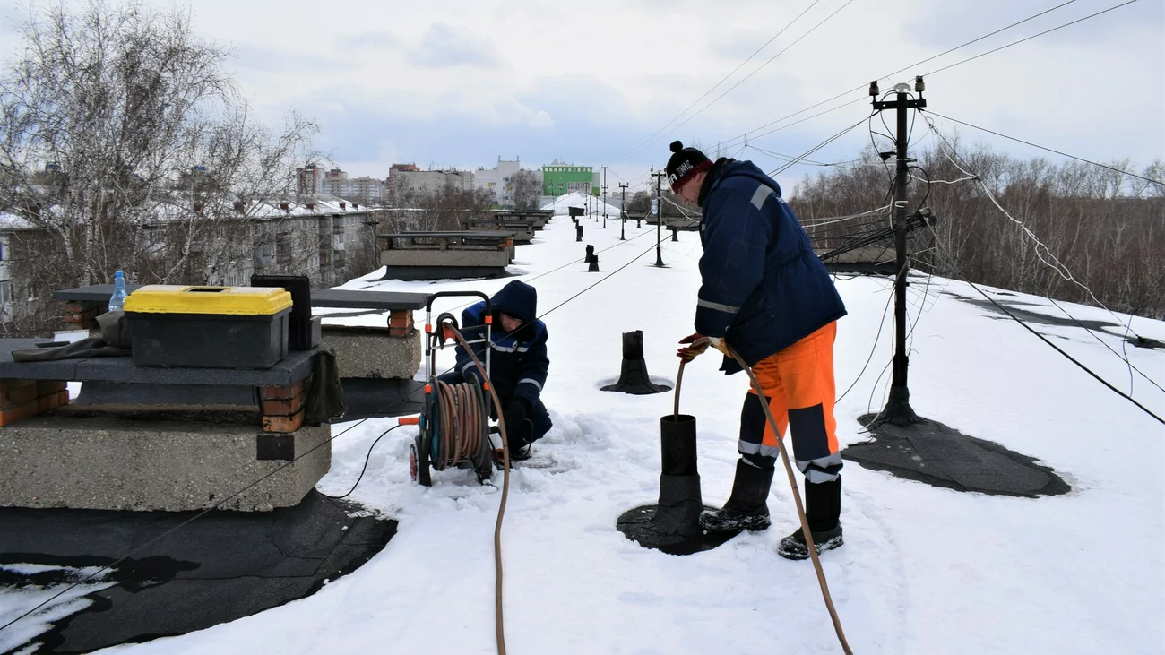
[[[150,284],[125,311],[137,366],[270,368],[288,354],[283,289]]]

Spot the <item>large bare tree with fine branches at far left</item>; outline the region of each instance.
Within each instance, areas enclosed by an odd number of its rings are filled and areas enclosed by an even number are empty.
[[[21,249],[42,255],[13,272],[29,286],[107,282],[119,268],[202,282],[219,258],[242,256],[231,245],[250,231],[247,209],[290,197],[317,156],[310,120],[255,121],[230,51],[197,38],[189,13],[61,3],[29,9],[21,35],[0,75],[0,203],[38,228]]]

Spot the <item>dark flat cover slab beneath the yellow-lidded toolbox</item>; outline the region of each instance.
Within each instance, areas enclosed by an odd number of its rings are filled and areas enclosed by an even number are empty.
[[[0,339],[0,379],[287,387],[311,374],[312,358],[318,352],[318,348],[290,351],[275,366],[255,369],[135,366],[128,357],[13,361],[12,351],[34,347],[30,344],[37,340]]]

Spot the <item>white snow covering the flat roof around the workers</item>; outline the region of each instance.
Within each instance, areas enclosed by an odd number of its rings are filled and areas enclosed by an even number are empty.
[[[563,219],[518,246],[510,266],[514,277],[537,288],[542,312],[555,308],[543,317],[551,364],[542,394],[555,427],[535,445],[543,465],[514,470],[502,527],[510,652],[840,653],[811,564],[774,552],[797,521],[783,473],[769,495],[772,528],[743,533],[715,550],[664,555],[615,529],[621,513],[656,501],[659,417],[671,414],[672,395],[598,389],[617,378],[621,334],[631,330],[644,331],[654,378],[675,381],[676,341],[693,331],[700,284],[697,235],[665,239],[668,268],[656,268],[650,266],[655,230],[633,226],[624,226],[626,241],[617,228],[587,230],[601,275],[587,273],[584,244]],[[493,294],[509,282],[379,281],[380,275],[344,287]],[[894,333],[885,308],[892,291],[884,277],[839,280],[838,288],[849,311],[839,322],[834,357],[836,388],[845,392],[836,406],[838,438],[846,446],[867,439],[856,418],[884,403],[883,366]],[[1058,312],[1038,296],[987,290],[1032,312]],[[1160,424],[1021,325],[967,302],[975,294],[967,284],[919,277],[909,293],[913,408],[1036,457],[1074,491],[1043,499],[960,493],[847,463],[846,544],[822,563],[854,652],[1158,652],[1165,611]],[[433,312],[456,316],[471,302],[440,298]],[[1081,319],[1115,321],[1101,309],[1060,304]],[[1165,322],[1134,321],[1145,337],[1165,340]],[[384,317],[330,322],[383,325]],[[1165,394],[1139,378],[1130,381],[1125,364],[1104,345],[1127,352],[1158,381],[1165,352],[1123,348],[1121,328],[1095,337],[1054,322],[1036,328],[1165,413]],[[453,348],[439,351],[438,369],[452,366],[453,358]],[[711,351],[690,365],[680,399],[682,410],[698,420],[704,501],[714,506],[732,488],[747,389],[743,375],[726,378],[718,367]],[[495,485],[480,485],[472,471],[450,469],[433,472],[432,487],[421,487],[408,471],[416,428],[383,435],[395,424],[374,418],[333,425],[331,472],[318,484],[324,493],[347,492],[383,436],[350,496],[400,521],[383,551],[302,600],[118,652],[494,653],[500,476]]]

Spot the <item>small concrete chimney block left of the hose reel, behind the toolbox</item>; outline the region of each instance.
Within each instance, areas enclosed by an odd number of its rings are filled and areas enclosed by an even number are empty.
[[[324,325],[322,341],[336,348],[343,378],[410,379],[421,368],[421,332],[394,337],[390,330]]]

